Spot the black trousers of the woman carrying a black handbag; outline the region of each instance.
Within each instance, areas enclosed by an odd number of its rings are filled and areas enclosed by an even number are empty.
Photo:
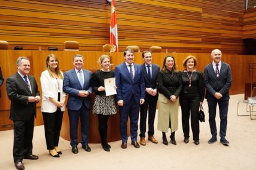
[[[199,140],[199,94],[181,94],[179,98],[179,103],[181,105],[182,129],[184,133],[184,138],[189,138],[189,118],[191,115],[191,129],[193,132],[193,140]]]

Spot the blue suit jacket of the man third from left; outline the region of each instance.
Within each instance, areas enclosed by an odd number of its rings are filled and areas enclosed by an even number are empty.
[[[79,91],[88,91],[92,94],[92,84],[90,83],[92,72],[89,70],[83,69],[84,84],[81,87],[77,73],[75,69],[66,71],[64,73],[63,79],[63,91],[69,94],[69,99],[67,100],[67,108],[70,110],[79,110],[82,107],[82,103],[85,104],[85,107],[90,108],[91,97],[80,97]]]

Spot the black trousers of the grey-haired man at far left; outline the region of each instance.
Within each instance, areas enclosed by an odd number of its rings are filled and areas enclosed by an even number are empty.
[[[34,116],[28,121],[14,121],[14,163],[22,162],[23,156],[32,154],[33,132]]]

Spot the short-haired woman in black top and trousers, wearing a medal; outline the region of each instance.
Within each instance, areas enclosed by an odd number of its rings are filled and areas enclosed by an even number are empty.
[[[191,115],[191,129],[195,145],[199,145],[198,110],[203,103],[204,86],[202,71],[195,69],[197,59],[189,55],[183,62],[185,68],[182,72],[182,91],[179,103],[182,111],[182,129],[185,144],[189,143],[189,117]]]

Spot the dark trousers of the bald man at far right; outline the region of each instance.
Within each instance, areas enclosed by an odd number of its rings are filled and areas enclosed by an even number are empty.
[[[220,137],[226,137],[227,123],[228,123],[228,100],[218,100],[215,98],[208,99],[208,108],[209,108],[209,124],[211,129],[211,135],[217,137],[217,127],[216,127],[216,107],[217,103],[220,110]]]

